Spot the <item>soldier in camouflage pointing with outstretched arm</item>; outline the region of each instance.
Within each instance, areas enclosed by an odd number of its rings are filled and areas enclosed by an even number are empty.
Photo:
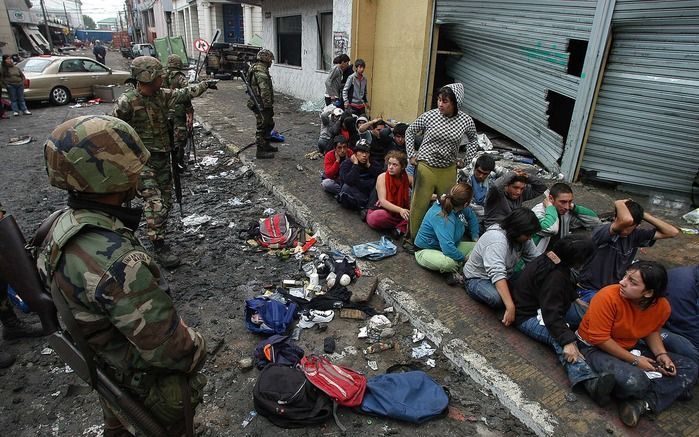
[[[156,58],[139,56],[134,59],[131,76],[136,86],[119,97],[112,115],[130,124],[150,151],[150,160],[141,173],[138,195],[145,203],[148,239],[153,243],[158,262],[165,268],[172,268],[180,260],[165,244],[167,217],[172,207],[172,144],[167,118],[175,105],[189,102],[207,88],[215,87],[216,81],[178,90],[161,89],[164,74],[163,66]]]

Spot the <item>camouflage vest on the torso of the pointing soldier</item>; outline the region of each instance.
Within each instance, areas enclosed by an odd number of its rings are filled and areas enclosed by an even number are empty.
[[[124,95],[133,108],[133,116],[128,123],[141,137],[146,148],[151,152],[169,152],[171,146],[167,127],[168,108],[162,91],[148,97],[131,89]]]

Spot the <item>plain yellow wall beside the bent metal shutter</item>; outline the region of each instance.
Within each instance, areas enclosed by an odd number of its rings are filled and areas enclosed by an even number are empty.
[[[411,122],[425,108],[433,0],[355,0],[352,61],[367,63],[370,114]]]

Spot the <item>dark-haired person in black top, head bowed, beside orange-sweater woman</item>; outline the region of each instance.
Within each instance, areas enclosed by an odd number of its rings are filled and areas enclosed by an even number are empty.
[[[599,405],[606,405],[614,388],[614,375],[597,374],[578,350],[574,329],[566,323],[578,294],[572,269],[582,266],[595,252],[589,238],[572,235],[556,241],[552,249],[527,264],[512,283],[512,300],[517,308],[517,329],[556,352],[572,387],[584,388]]]

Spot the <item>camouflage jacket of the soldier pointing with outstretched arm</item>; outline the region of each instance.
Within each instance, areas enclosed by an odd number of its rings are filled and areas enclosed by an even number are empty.
[[[131,125],[151,152],[169,152],[167,117],[178,103],[191,101],[206,91],[206,82],[182,89],[160,89],[152,96],[144,96],[132,89],[117,100],[112,115]]]

